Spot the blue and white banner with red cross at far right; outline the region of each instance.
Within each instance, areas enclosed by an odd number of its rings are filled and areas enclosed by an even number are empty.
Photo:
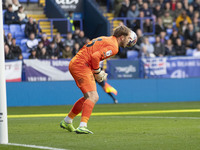
[[[200,58],[169,57],[142,59],[149,78],[200,77]]]

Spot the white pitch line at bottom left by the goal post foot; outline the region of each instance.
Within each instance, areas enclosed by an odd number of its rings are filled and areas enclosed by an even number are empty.
[[[30,148],[38,148],[38,149],[47,149],[47,150],[69,150],[69,149],[62,149],[62,148],[54,148],[54,147],[47,147],[47,146],[37,146],[37,145],[27,145],[27,144],[17,144],[17,143],[8,143],[8,144],[5,144],[5,145],[30,147]]]

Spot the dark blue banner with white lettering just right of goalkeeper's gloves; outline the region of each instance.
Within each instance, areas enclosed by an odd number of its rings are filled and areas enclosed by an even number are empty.
[[[110,79],[139,78],[139,61],[118,59],[107,61],[107,73]]]

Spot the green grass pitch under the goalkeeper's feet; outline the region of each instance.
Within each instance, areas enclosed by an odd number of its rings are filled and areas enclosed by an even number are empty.
[[[9,107],[8,116],[64,114],[72,106]],[[96,105],[95,113],[198,110],[200,102]],[[9,143],[70,150],[200,150],[200,111],[93,115],[88,128],[93,135],[77,135],[59,127],[60,117],[8,118]],[[74,120],[78,127],[80,116]],[[0,145],[0,150],[35,148]]]

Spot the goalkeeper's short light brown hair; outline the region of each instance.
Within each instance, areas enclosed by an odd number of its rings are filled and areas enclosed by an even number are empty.
[[[125,25],[120,25],[115,28],[113,36],[115,37],[120,37],[122,35],[127,36],[129,35],[130,32],[131,30],[128,27],[126,27]]]

